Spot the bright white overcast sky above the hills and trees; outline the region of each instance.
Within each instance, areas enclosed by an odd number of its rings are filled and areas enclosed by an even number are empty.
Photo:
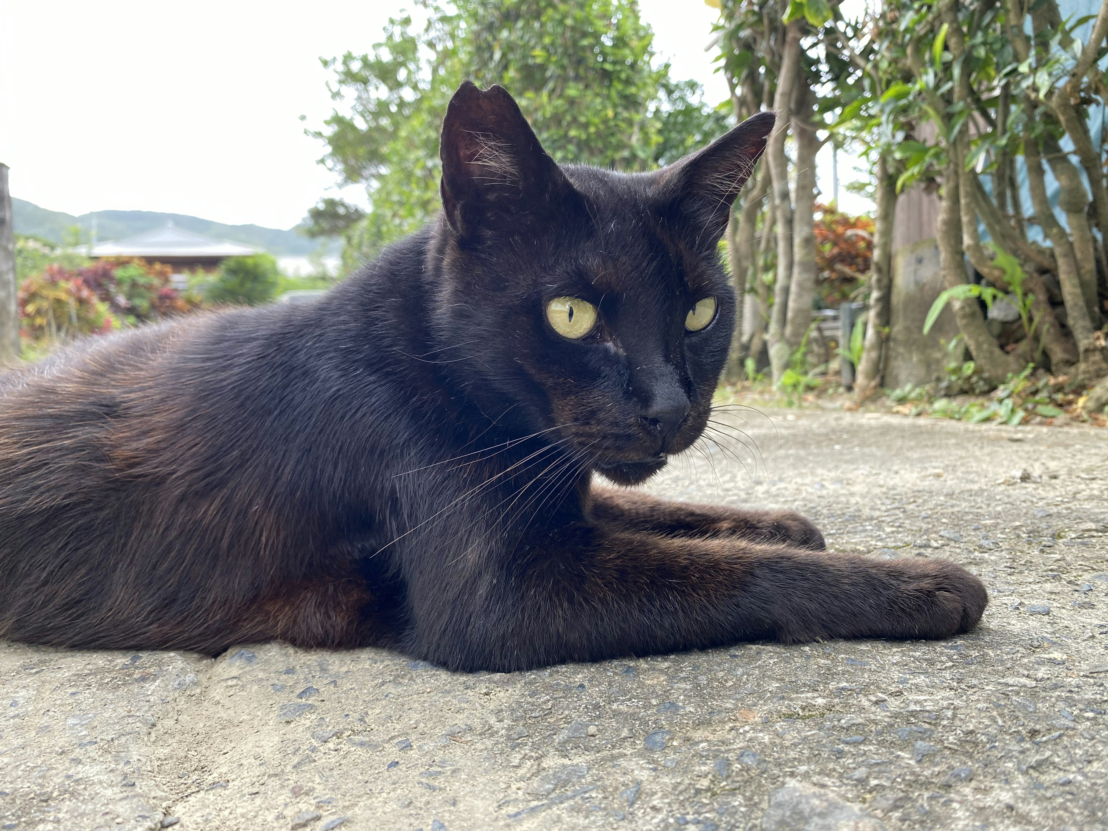
[[[336,193],[316,164],[322,144],[304,135],[331,112],[319,57],[369,51],[409,4],[0,0],[0,162],[12,195],[70,214],[290,227]],[[674,76],[695,78],[712,103],[727,98],[704,51],[716,10],[639,6]],[[362,201],[357,188],[343,196]]]

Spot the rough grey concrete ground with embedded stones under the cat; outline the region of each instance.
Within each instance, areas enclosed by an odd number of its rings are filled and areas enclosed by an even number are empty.
[[[514,675],[0,644],[0,829],[1108,828],[1108,431],[725,421],[758,451],[652,489],[955,560],[988,584],[983,624]]]

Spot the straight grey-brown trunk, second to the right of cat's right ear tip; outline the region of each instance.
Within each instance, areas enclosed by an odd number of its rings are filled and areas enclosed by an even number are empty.
[[[792,280],[789,284],[789,309],[784,340],[789,350],[800,348],[812,325],[812,297],[815,294],[815,154],[820,140],[812,123],[811,93],[801,91],[792,116],[792,137],[797,143],[796,206],[792,209]]]

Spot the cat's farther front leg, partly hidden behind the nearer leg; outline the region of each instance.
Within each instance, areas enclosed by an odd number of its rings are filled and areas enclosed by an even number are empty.
[[[667,536],[733,536],[811,551],[827,547],[823,534],[812,521],[792,511],[690,505],[614,488],[593,488],[586,510],[595,522],[616,531],[648,531]]]

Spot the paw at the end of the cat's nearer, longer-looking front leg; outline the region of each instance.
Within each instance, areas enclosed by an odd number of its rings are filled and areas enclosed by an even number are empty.
[[[890,566],[896,588],[886,598],[884,619],[876,622],[884,637],[951,637],[976,626],[988,605],[985,584],[948,561],[899,561]]]

